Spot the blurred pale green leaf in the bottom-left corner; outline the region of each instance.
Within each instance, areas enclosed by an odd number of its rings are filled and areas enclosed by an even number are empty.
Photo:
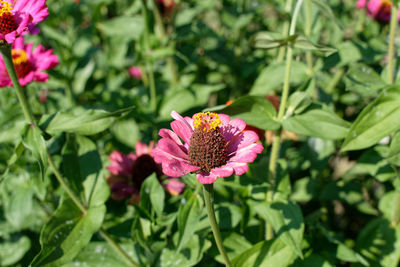
[[[0,243],[0,265],[16,264],[30,249],[31,241],[26,236],[12,237]]]

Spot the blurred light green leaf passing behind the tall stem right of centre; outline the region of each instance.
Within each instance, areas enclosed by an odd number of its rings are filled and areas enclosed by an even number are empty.
[[[281,89],[285,68],[285,62],[274,62],[262,69],[250,90],[250,95],[268,95]],[[290,85],[299,85],[308,78],[308,67],[300,61],[293,61],[290,72]]]

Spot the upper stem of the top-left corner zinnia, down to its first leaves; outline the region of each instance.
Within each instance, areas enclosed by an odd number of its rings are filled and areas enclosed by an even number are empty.
[[[21,84],[19,83],[17,72],[15,71],[14,63],[12,62],[12,55],[11,55],[11,45],[2,45],[0,47],[0,52],[3,56],[4,64],[6,65],[6,69],[10,79],[14,85],[15,92],[18,97],[18,101],[21,105],[22,112],[24,113],[25,121],[29,124],[33,124],[33,116],[31,107],[25,97],[25,90],[22,88]]]

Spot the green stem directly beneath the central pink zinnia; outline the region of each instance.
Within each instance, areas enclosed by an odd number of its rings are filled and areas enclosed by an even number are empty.
[[[204,194],[204,201],[206,202],[208,218],[210,219],[211,229],[214,234],[215,243],[217,243],[219,253],[224,258],[225,265],[231,267],[231,262],[229,261],[224,245],[222,244],[221,233],[219,231],[217,220],[215,219],[213,184],[204,184],[203,194]]]

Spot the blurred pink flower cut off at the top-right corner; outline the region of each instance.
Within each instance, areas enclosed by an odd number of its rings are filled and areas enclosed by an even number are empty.
[[[367,8],[367,14],[371,18],[380,21],[388,22],[392,13],[392,2],[389,0],[358,0],[357,8]],[[398,16],[400,19],[400,13]]]

